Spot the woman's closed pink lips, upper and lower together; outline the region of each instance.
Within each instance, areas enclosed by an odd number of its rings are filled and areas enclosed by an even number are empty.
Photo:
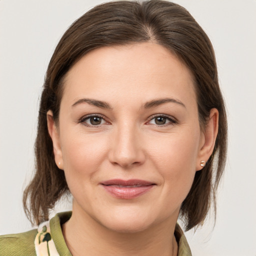
[[[100,183],[112,196],[121,199],[132,199],[148,192],[155,183],[141,179],[110,179]]]

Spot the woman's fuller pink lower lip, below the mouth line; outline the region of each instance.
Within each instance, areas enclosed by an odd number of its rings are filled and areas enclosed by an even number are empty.
[[[148,192],[153,187],[153,184],[138,187],[117,187],[111,185],[102,186],[114,197],[121,199],[132,199]]]

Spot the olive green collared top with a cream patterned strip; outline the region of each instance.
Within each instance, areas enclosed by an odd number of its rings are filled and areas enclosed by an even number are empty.
[[[50,221],[40,224],[38,229],[0,235],[0,256],[72,256],[61,231],[61,225],[71,214],[71,211],[57,213]],[[185,235],[178,224],[174,234],[178,243],[178,256],[191,256]]]

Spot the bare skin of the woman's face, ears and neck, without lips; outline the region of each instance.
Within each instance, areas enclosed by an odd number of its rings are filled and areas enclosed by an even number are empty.
[[[166,97],[172,101],[144,107]],[[102,116],[99,125],[86,119],[91,114]],[[165,123],[157,122],[163,115]],[[211,109],[200,130],[189,69],[153,42],[95,49],[67,73],[58,126],[51,111],[47,120],[55,162],[73,195],[73,213],[63,225],[72,255],[177,255],[180,205],[200,161],[212,153],[218,122]],[[100,185],[114,178],[155,185],[120,199]]]

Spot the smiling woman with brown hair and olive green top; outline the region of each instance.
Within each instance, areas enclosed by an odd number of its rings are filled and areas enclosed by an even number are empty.
[[[40,225],[0,237],[0,255],[191,255],[176,221],[202,224],[225,153],[214,52],[191,15],[158,0],[98,5],[46,72],[23,200]],[[47,221],[69,192],[72,213]]]

